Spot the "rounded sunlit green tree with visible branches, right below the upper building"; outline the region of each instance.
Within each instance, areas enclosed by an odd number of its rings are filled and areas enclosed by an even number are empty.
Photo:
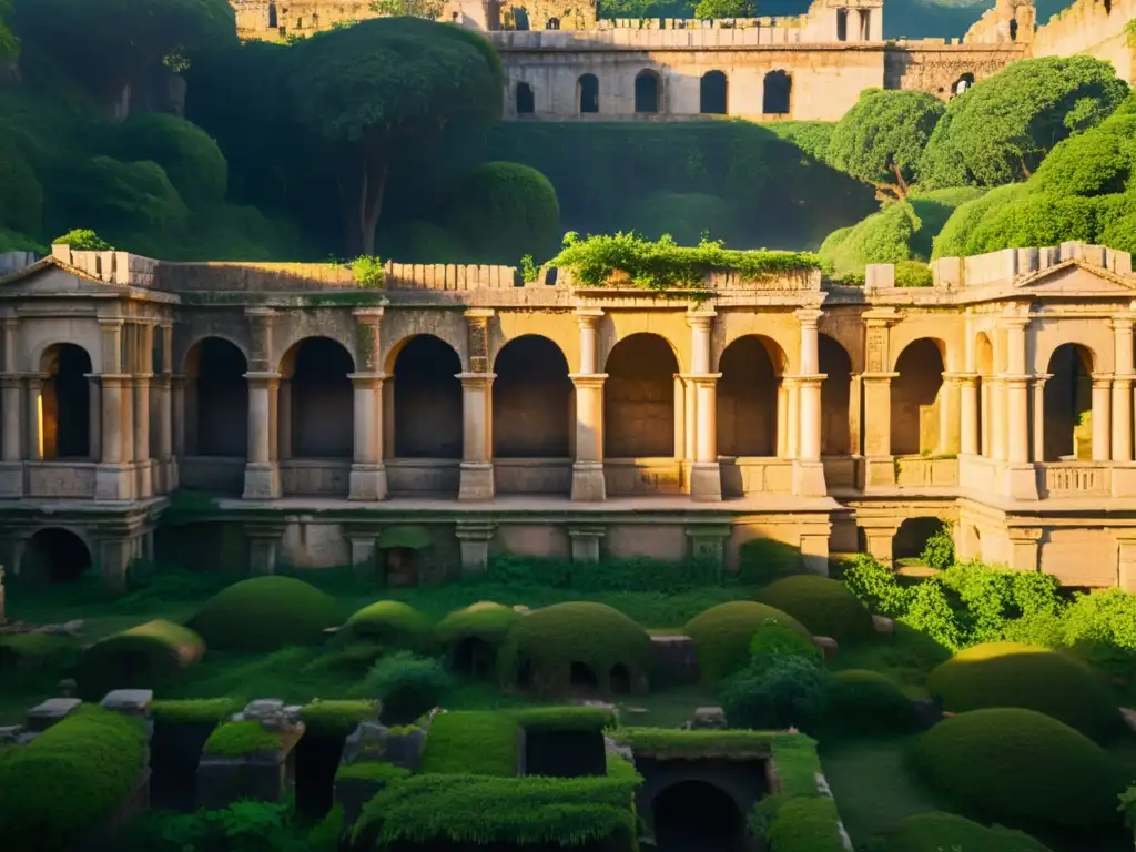
[[[867,89],[833,130],[828,162],[872,184],[882,201],[903,201],[945,110],[938,98],[924,92]]]

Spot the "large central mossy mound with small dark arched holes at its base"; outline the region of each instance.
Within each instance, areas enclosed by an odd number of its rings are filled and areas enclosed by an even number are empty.
[[[538,609],[506,634],[498,675],[508,686],[543,694],[570,686],[600,692],[646,687],[651,637],[623,612],[576,601]]]

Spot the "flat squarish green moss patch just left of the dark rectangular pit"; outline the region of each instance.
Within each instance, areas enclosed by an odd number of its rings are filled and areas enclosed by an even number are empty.
[[[520,725],[509,713],[440,713],[431,722],[419,771],[512,777],[519,751]]]

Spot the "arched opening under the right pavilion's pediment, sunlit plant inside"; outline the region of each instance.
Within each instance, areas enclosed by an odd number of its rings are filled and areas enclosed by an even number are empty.
[[[1045,370],[1045,461],[1093,458],[1093,354],[1076,343],[1062,343]]]

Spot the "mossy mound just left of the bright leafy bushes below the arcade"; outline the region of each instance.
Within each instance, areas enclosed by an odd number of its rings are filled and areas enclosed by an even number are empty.
[[[837,642],[874,634],[871,613],[840,580],[816,574],[799,574],[770,583],[757,594],[761,603],[788,612],[815,636]]]

